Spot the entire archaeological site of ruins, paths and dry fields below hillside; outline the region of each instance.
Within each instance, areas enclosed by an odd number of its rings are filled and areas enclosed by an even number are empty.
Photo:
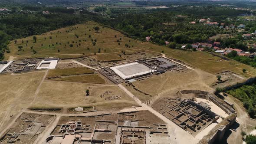
[[[236,119],[213,89],[243,79],[233,72],[220,82],[157,52],[97,55],[0,62],[3,75],[42,75],[0,144],[213,144]]]

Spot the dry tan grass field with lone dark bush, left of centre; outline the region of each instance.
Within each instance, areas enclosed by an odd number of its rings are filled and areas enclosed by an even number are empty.
[[[89,89],[89,96],[85,91]],[[106,94],[106,93],[109,94]],[[104,95],[104,97],[101,97]],[[110,97],[121,96],[118,99]],[[107,99],[107,100],[106,100]],[[117,103],[117,105],[116,105]],[[118,105],[122,103],[122,105]],[[77,82],[49,81],[43,82],[33,108],[69,108],[78,106],[107,106],[108,108],[118,108],[134,106],[133,101],[117,85],[94,85]],[[105,108],[106,109],[106,108]]]

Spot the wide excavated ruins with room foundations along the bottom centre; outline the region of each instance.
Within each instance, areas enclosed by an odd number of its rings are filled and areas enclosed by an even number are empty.
[[[149,111],[62,117],[47,144],[168,144],[174,138]]]

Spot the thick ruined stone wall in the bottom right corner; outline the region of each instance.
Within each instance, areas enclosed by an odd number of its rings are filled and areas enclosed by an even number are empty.
[[[198,144],[213,144],[222,140],[225,132],[229,127],[236,121],[236,113],[230,114],[228,117],[223,119],[219,124],[217,124],[206,136],[204,136]]]

